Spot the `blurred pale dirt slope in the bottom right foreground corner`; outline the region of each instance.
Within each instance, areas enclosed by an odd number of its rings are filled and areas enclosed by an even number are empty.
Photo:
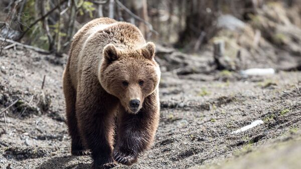
[[[233,159],[219,162],[214,165],[195,166],[191,169],[239,169],[239,168],[300,168],[300,133],[290,141],[273,143],[269,146],[261,146],[253,152],[242,154]],[[249,150],[248,150],[249,151]]]

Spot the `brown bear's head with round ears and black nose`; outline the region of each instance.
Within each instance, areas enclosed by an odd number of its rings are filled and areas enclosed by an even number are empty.
[[[161,72],[154,56],[155,44],[152,42],[134,50],[121,50],[113,44],[103,49],[98,79],[128,113],[137,113],[144,98],[158,88]]]

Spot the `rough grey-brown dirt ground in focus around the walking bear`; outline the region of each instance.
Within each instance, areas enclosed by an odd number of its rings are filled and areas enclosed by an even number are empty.
[[[30,50],[4,51],[0,110],[19,101],[6,112],[7,127],[0,115],[0,168],[90,167],[89,156],[70,154],[62,92],[65,61]],[[161,120],[152,149],[132,166],[116,168],[208,166],[301,137],[301,72],[244,77],[229,71],[180,75],[163,70],[160,86]],[[264,123],[231,133],[259,119]]]

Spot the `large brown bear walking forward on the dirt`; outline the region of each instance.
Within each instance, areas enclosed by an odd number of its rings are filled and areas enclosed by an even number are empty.
[[[90,150],[92,168],[131,165],[152,144],[161,74],[154,56],[154,43],[129,23],[99,18],[74,35],[63,74],[67,124],[71,153]]]

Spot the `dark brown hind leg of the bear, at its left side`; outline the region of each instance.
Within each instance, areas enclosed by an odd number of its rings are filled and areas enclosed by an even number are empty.
[[[72,155],[87,155],[88,151],[82,144],[79,130],[77,127],[77,119],[75,113],[76,91],[71,84],[70,77],[66,70],[63,78],[63,90],[66,101],[66,117],[68,131],[71,136],[71,154]]]

